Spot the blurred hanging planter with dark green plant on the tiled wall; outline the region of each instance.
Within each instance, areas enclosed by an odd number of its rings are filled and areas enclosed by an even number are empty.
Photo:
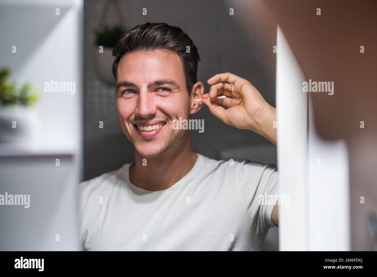
[[[120,22],[123,22],[123,16],[120,12],[121,9],[118,2],[116,0],[107,0],[101,12],[98,29],[94,31],[94,66],[98,78],[104,83],[113,86],[115,85],[115,78],[112,73],[112,65],[115,57],[113,57],[112,51],[121,35],[126,32],[126,28],[122,24],[116,24],[113,26],[104,24],[107,11],[111,4],[114,5],[115,11],[117,11],[118,19]]]

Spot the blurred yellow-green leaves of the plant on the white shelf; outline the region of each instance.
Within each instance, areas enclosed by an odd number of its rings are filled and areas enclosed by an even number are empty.
[[[31,83],[24,84],[18,88],[14,81],[9,80],[11,70],[3,68],[0,70],[0,101],[2,104],[19,104],[31,106],[38,99],[38,92]]]

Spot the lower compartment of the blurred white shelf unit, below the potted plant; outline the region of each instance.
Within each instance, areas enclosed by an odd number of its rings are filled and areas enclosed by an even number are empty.
[[[0,206],[0,251],[78,250],[74,155],[8,151],[0,153],[0,194],[29,194],[30,206]]]

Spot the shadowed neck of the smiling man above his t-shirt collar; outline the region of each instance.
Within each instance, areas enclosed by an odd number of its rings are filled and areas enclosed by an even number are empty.
[[[190,132],[186,132],[167,152],[147,159],[147,165],[143,165],[143,158],[135,151],[135,164],[130,168],[130,181],[145,190],[166,190],[182,179],[197,159],[198,155],[190,147]]]

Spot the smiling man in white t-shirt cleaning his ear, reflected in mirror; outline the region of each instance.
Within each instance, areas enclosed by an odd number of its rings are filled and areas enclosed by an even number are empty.
[[[225,124],[276,144],[275,109],[231,73],[210,78],[204,94],[198,49],[166,23],[136,26],[113,55],[118,118],[135,162],[80,184],[83,249],[260,250],[278,223],[277,205],[260,201],[277,194],[276,167],[207,158],[173,126],[204,103]]]

